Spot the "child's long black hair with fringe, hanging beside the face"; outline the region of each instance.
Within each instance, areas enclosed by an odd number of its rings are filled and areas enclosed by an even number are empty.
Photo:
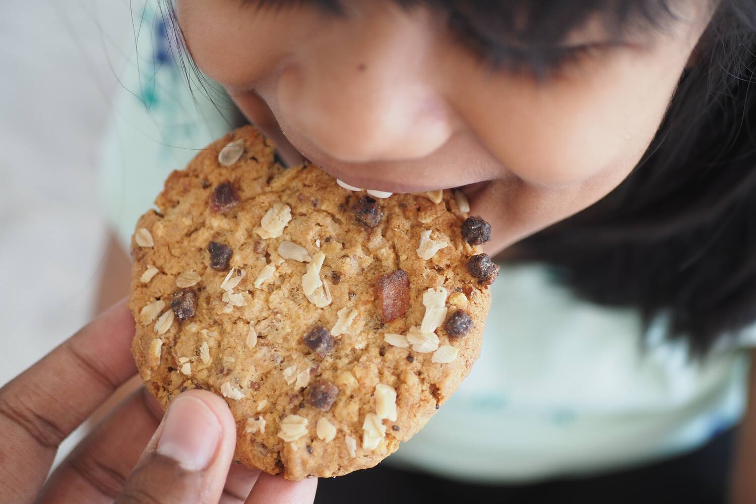
[[[345,15],[339,0],[240,0],[257,8],[316,5]],[[607,31],[662,28],[668,0],[395,0],[446,14],[485,58],[507,59],[507,41],[547,45],[590,14]],[[516,246],[516,261],[541,261],[562,283],[601,305],[664,315],[671,338],[702,355],[756,319],[756,2],[712,0],[713,17],[655,138],[634,171],[590,208]],[[503,41],[503,42],[502,42]],[[523,43],[524,42],[524,43]],[[492,55],[491,55],[492,54]],[[503,55],[502,55],[503,54]],[[519,65],[519,63],[518,63]],[[544,65],[545,67],[545,65]],[[506,281],[502,278],[500,281]]]

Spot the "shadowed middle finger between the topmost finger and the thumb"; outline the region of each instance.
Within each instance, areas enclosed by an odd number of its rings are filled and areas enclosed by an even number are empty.
[[[131,394],[61,462],[37,502],[113,502],[162,416],[146,389]]]

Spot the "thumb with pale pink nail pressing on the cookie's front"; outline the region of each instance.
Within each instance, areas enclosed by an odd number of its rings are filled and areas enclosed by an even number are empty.
[[[218,502],[234,457],[236,423],[221,397],[184,392],[171,403],[116,503]]]

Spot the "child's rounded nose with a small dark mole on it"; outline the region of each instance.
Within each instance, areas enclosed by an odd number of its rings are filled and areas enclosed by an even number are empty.
[[[454,125],[433,70],[432,31],[406,13],[364,23],[318,36],[283,64],[280,124],[345,162],[427,156]]]

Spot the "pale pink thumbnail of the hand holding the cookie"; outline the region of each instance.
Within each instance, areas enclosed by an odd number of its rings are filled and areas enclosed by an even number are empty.
[[[221,439],[221,424],[197,397],[180,395],[166,413],[157,453],[178,462],[187,471],[200,471],[209,465]]]

